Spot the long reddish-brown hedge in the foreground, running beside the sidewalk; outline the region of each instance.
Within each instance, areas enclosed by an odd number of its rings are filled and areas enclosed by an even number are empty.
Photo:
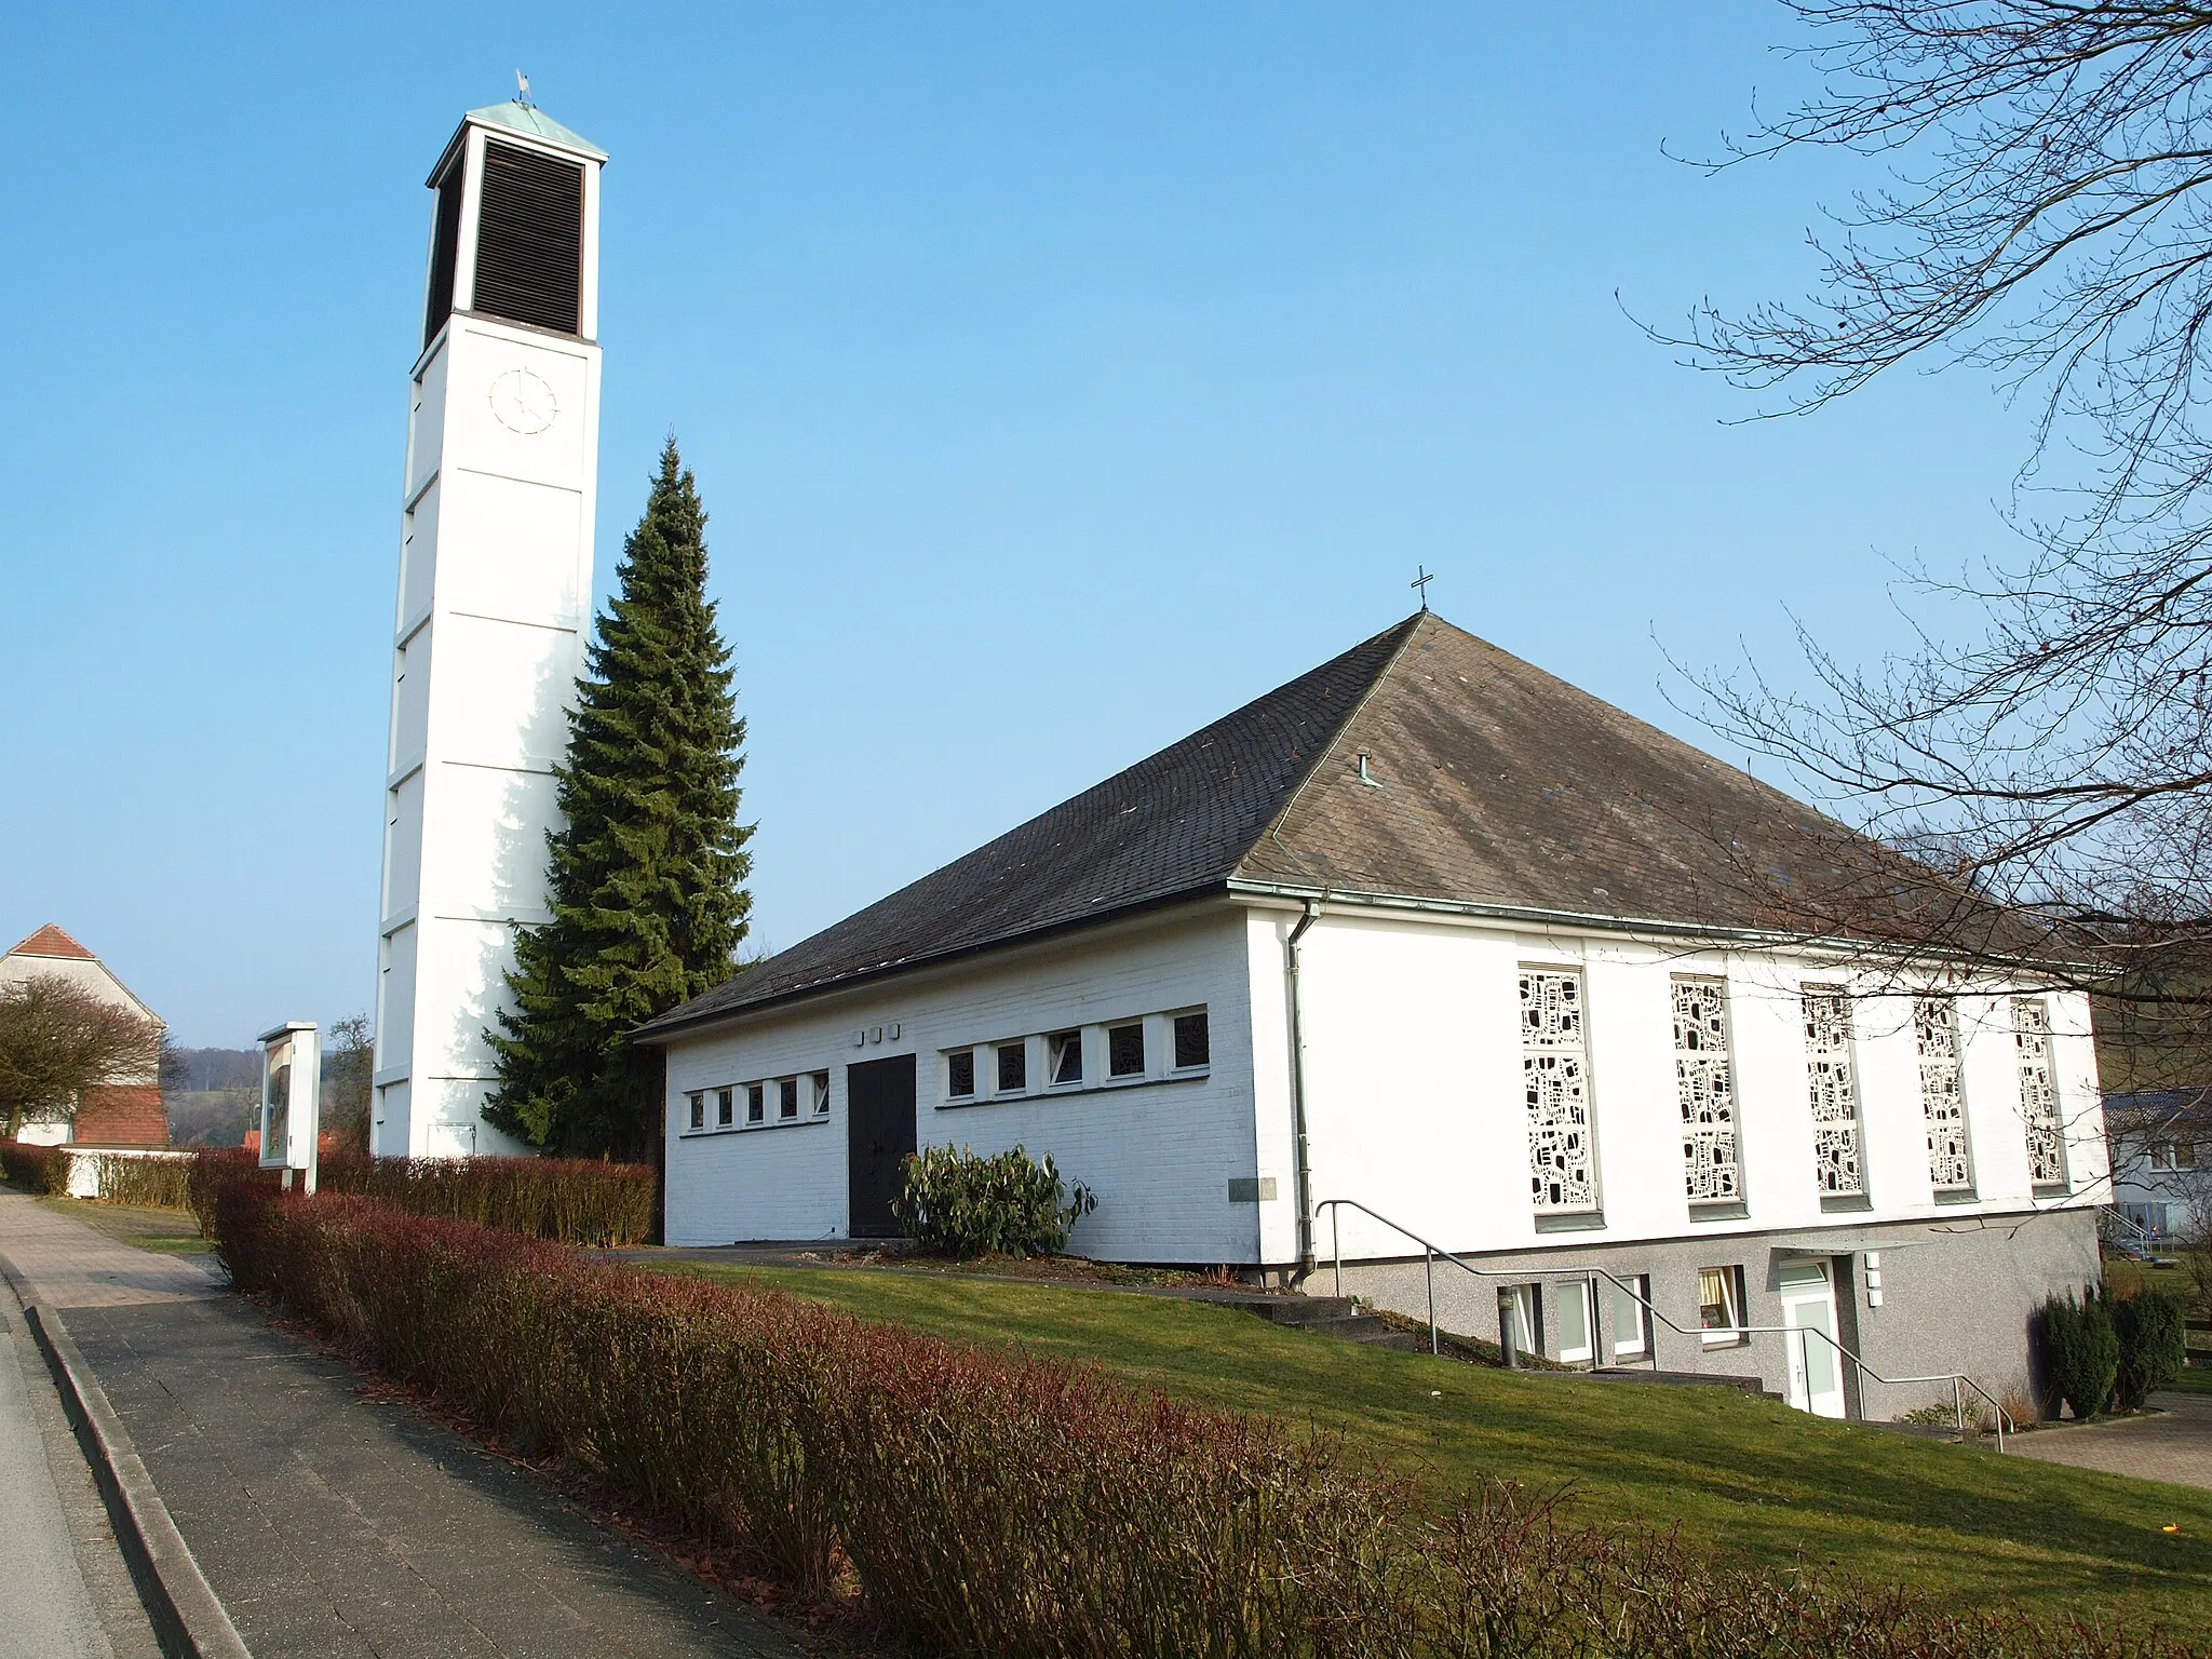
[[[484,1433],[940,1655],[1011,1659],[2203,1659],[1818,1573],[1442,1504],[1340,1438],[1091,1367],[591,1263],[361,1197],[217,1201],[232,1281]]]

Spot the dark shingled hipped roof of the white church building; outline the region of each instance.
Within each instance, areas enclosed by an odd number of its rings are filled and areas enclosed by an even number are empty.
[[[1776,894],[1896,865],[1422,611],[639,1035],[1208,891],[1805,931]]]

